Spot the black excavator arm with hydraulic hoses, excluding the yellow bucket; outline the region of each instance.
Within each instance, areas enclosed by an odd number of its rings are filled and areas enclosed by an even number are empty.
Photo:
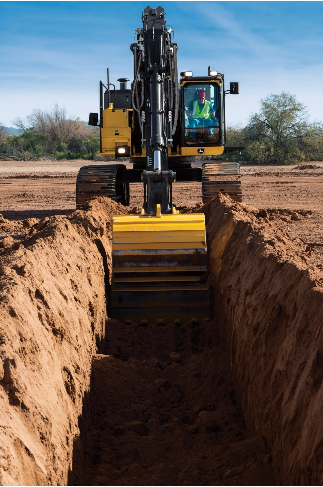
[[[133,53],[134,81],[131,87],[134,124],[138,125],[141,144],[146,149],[143,171],[145,214],[171,213],[172,183],[176,173],[168,167],[168,147],[178,122],[179,89],[177,44],[166,30],[162,7],[144,9],[143,28],[137,29]]]

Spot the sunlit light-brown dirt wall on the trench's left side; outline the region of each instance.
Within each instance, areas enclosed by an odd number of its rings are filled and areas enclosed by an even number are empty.
[[[111,202],[90,202],[40,221],[1,253],[0,485],[77,480],[72,461],[82,462],[91,360],[104,339],[115,212]]]

